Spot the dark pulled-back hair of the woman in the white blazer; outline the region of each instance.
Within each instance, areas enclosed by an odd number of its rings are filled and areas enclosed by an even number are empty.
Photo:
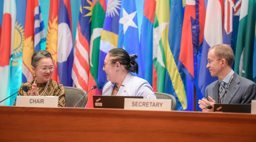
[[[137,55],[129,55],[122,48],[111,49],[108,53],[112,64],[119,62],[126,70],[136,72],[137,74],[139,73],[139,65],[135,61],[138,57]]]

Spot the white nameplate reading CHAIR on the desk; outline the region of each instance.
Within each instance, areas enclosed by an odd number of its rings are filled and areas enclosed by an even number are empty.
[[[58,96],[17,96],[17,107],[57,108]]]

